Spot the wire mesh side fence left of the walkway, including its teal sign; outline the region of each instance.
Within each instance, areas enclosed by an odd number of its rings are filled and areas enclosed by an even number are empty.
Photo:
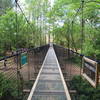
[[[0,59],[0,100],[25,100],[49,45],[19,50]]]

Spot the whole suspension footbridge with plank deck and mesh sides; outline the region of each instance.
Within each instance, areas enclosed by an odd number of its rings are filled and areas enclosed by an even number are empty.
[[[14,85],[21,100],[71,100],[77,94],[72,88],[73,77],[82,76],[96,88],[100,82],[98,65],[73,50],[47,44],[0,59],[0,75],[8,81],[6,85]]]

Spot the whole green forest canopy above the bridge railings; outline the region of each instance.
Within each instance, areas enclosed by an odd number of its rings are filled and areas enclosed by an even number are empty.
[[[53,40],[99,59],[99,22],[99,0],[1,0],[0,56]]]

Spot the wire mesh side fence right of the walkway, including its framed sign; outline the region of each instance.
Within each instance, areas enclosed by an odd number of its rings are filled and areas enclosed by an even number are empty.
[[[100,90],[99,62],[56,44],[53,47],[72,100],[92,100],[94,97],[96,98],[96,91]]]

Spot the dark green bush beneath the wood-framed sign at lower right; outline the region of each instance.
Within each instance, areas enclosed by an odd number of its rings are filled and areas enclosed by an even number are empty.
[[[77,91],[77,94],[73,96],[75,100],[99,100],[100,99],[100,86],[93,88],[86,80],[81,76],[74,76],[71,81],[71,89]]]

